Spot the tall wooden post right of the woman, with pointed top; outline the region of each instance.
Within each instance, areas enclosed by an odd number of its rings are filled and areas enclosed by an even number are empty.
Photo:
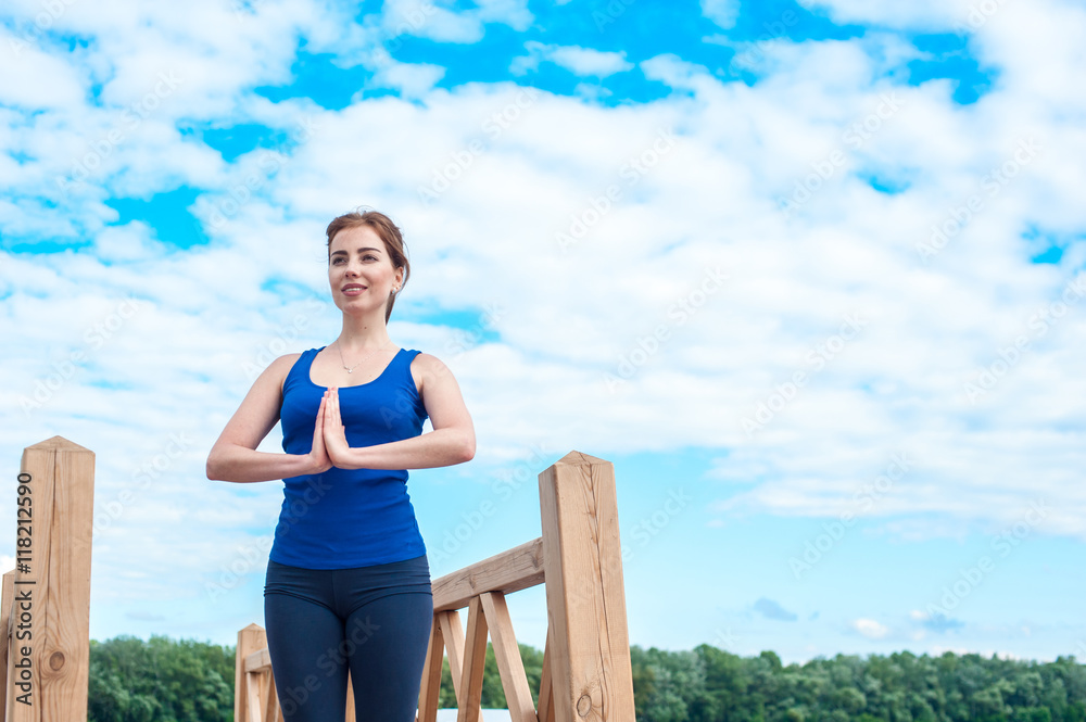
[[[570,452],[540,474],[554,715],[634,719],[615,467]]]

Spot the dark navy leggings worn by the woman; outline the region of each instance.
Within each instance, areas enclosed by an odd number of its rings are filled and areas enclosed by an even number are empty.
[[[288,722],[412,722],[433,621],[426,555],[355,569],[268,561],[264,623]]]

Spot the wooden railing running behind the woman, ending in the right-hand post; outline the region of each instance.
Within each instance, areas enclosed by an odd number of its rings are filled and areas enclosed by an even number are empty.
[[[539,477],[543,535],[437,579],[418,722],[434,722],[447,656],[457,722],[480,718],[490,637],[513,722],[633,722],[633,681],[622,585],[614,466],[570,452]],[[507,594],[546,587],[547,635],[539,706],[532,701]],[[467,634],[460,609],[467,608]],[[282,720],[256,624],[238,633],[235,721]],[[346,722],[354,722],[348,685]]]

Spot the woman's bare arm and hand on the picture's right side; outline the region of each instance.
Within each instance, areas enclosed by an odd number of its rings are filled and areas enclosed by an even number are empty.
[[[375,446],[348,446],[339,393],[330,389],[325,394],[325,447],[333,465],[341,469],[431,469],[475,457],[475,426],[453,372],[429,354],[418,354],[412,362],[416,366],[421,378],[419,394],[433,431]]]

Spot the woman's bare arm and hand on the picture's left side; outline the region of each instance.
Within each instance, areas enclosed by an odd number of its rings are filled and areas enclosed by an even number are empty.
[[[282,405],[282,380],[298,354],[272,362],[253,382],[241,406],[227,422],[218,441],[207,454],[207,478],[213,481],[272,481],[331,468],[324,444],[324,402],[317,411],[313,447],[308,454],[257,452],[256,447],[279,420]]]

